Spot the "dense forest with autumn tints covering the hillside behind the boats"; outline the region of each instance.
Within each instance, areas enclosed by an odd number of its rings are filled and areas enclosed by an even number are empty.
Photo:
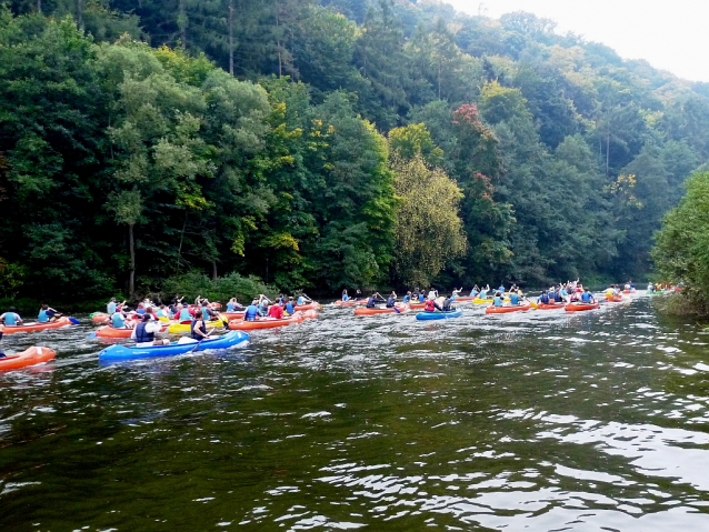
[[[709,84],[432,0],[0,9],[0,295],[650,270]]]

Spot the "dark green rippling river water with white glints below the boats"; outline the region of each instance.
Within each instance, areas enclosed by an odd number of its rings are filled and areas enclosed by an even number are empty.
[[[650,298],[320,318],[100,364],[6,337],[0,530],[709,530],[709,334]]]

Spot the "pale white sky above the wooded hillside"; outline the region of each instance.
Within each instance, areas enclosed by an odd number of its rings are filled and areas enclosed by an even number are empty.
[[[645,59],[655,68],[709,82],[708,0],[443,0],[470,14],[499,18],[527,11],[602,42],[623,59]]]

